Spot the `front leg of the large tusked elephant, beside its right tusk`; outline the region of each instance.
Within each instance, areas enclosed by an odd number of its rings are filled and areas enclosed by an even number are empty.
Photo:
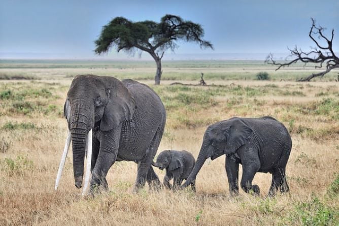
[[[92,171],[91,192],[104,188],[108,190],[106,175],[114,164],[119,148],[120,130],[102,132],[99,153]]]

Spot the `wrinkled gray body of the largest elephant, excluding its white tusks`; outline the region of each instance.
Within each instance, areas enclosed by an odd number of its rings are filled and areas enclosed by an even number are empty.
[[[121,160],[138,163],[134,191],[146,181],[160,186],[151,163],[162,138],[166,112],[151,88],[130,79],[78,75],[67,93],[64,114],[72,134],[77,188],[82,187],[86,136],[91,129],[91,191],[95,186],[108,189],[108,170]]]

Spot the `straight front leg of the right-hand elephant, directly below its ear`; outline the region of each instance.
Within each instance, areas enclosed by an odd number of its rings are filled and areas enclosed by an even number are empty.
[[[239,195],[239,162],[234,156],[226,156],[225,168],[227,173],[229,193]]]

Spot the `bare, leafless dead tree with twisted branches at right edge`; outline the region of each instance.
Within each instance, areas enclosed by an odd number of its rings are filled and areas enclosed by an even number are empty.
[[[312,26],[309,32],[309,37],[312,39],[313,42],[315,42],[316,47],[312,48],[309,52],[303,52],[301,49],[298,49],[296,46],[294,49],[289,49],[290,55],[288,57],[292,57],[292,60],[287,60],[288,62],[277,62],[273,58],[273,54],[270,53],[265,62],[268,64],[274,64],[278,66],[276,69],[279,70],[280,68],[283,68],[285,66],[290,66],[292,63],[296,63],[298,61],[303,62],[305,64],[307,63],[317,63],[315,68],[323,68],[323,64],[326,64],[326,70],[311,74],[306,78],[298,79],[297,81],[310,81],[311,79],[319,76],[324,76],[326,73],[330,72],[332,69],[339,68],[339,58],[335,55],[333,48],[332,48],[332,41],[334,37],[334,29],[332,29],[332,36],[330,39],[328,39],[324,35],[324,27],[317,26],[316,21],[312,19]],[[318,36],[318,38],[316,38]]]

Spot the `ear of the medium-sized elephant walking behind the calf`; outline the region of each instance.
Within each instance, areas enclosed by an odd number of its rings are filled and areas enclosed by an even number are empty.
[[[224,130],[226,136],[225,154],[232,154],[247,143],[251,138],[252,129],[246,125],[241,119],[234,118],[227,123]]]

